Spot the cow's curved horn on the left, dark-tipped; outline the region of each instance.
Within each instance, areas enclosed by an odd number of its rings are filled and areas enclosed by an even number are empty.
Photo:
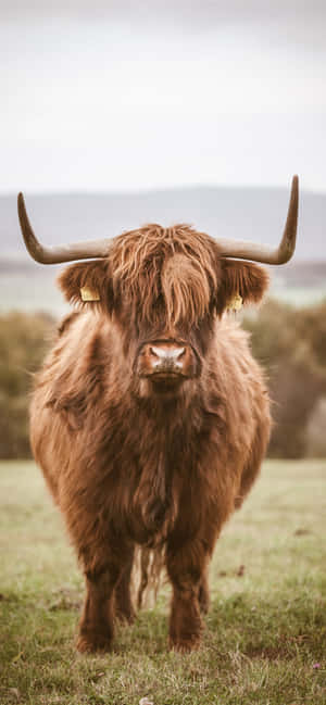
[[[35,237],[25,207],[23,193],[18,194],[18,216],[23,237],[30,256],[41,264],[59,264],[73,260],[104,257],[108,254],[110,239],[74,242],[57,248],[45,248]]]

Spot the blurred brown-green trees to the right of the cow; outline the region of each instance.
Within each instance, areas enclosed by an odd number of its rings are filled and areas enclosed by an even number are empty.
[[[293,309],[269,300],[246,317],[273,400],[272,457],[326,457],[326,301]]]

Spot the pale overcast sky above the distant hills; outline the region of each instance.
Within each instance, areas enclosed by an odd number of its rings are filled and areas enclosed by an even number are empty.
[[[324,0],[47,4],[1,1],[0,192],[326,191]]]

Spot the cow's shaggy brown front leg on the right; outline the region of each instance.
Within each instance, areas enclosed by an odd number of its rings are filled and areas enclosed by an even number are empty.
[[[188,543],[177,551],[167,546],[166,568],[173,586],[170,644],[177,651],[191,651],[200,643],[202,621],[199,594],[206,561],[208,556],[199,543]]]

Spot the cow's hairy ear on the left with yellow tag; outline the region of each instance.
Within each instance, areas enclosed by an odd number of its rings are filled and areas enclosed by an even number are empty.
[[[105,260],[72,264],[59,275],[58,284],[70,303],[112,312],[113,291]]]

